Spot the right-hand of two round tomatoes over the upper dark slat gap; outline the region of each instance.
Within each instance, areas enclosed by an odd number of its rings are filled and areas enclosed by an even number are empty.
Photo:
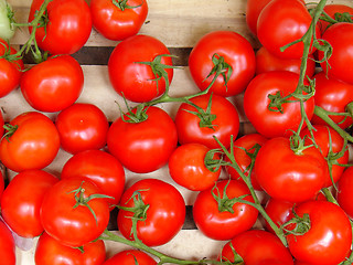
[[[255,52],[244,36],[233,31],[213,31],[197,41],[189,56],[193,81],[205,91],[215,77],[214,73],[210,75],[217,67],[214,61],[221,57],[232,72],[226,70],[224,73],[227,82],[222,74],[218,75],[210,92],[226,97],[242,93],[255,74]]]

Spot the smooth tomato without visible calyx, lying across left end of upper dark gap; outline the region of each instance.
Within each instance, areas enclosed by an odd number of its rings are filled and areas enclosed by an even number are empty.
[[[21,80],[25,100],[36,110],[54,113],[74,104],[84,86],[84,73],[69,55],[51,57],[26,71]]]

